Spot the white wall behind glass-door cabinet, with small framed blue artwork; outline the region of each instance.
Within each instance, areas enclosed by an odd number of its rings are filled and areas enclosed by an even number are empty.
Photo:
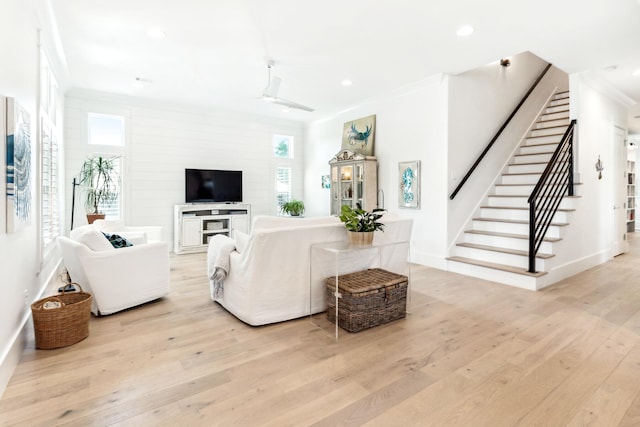
[[[374,154],[378,159],[378,188],[384,191],[384,207],[389,212],[414,218],[412,260],[442,266],[447,228],[447,84],[446,76],[435,75],[310,124],[305,158],[306,214],[329,214],[329,191],[321,189],[320,177],[329,173],[328,161],[341,149],[343,124],[375,114]],[[411,160],[422,162],[418,210],[398,207],[398,162]]]

